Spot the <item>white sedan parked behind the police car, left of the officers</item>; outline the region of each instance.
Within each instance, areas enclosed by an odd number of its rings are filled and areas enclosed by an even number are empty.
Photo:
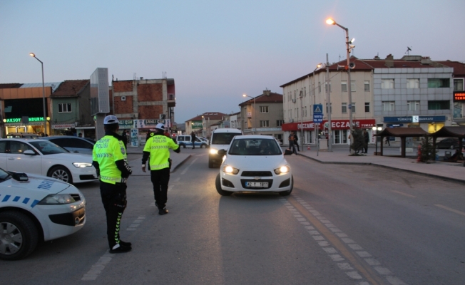
[[[92,155],[71,153],[48,140],[0,140],[0,168],[57,178],[68,183],[97,180]]]

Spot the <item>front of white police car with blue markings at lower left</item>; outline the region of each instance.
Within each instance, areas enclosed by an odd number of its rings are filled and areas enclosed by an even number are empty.
[[[73,185],[0,168],[0,259],[23,259],[39,242],[86,224],[86,199]]]

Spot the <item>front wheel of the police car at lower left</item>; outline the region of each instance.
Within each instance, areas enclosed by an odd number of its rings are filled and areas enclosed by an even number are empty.
[[[38,241],[36,225],[26,214],[0,213],[0,259],[23,259],[34,251]]]

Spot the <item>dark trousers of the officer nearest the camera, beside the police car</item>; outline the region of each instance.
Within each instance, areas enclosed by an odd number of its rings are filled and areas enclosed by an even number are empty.
[[[106,234],[112,249],[120,243],[120,223],[126,209],[126,183],[100,182],[100,195],[106,213]]]

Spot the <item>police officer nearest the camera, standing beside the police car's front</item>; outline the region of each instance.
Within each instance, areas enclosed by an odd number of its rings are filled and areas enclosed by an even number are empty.
[[[100,194],[106,213],[106,234],[110,253],[129,252],[131,242],[120,239],[120,222],[126,209],[126,179],[132,170],[128,165],[118,118],[108,115],[103,120],[105,136],[93,146],[92,165],[100,177]]]

